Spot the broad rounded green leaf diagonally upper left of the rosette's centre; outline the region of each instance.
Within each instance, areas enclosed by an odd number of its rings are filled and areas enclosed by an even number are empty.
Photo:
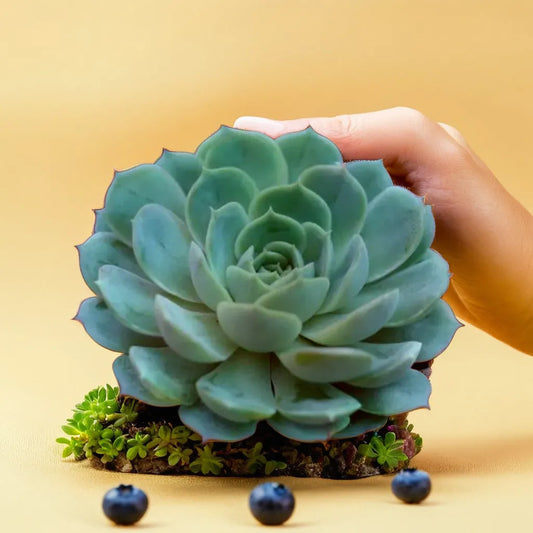
[[[236,202],[247,211],[257,192],[254,182],[238,168],[204,169],[191,187],[185,205],[185,220],[194,239],[204,244],[211,220],[210,207],[218,209]]]

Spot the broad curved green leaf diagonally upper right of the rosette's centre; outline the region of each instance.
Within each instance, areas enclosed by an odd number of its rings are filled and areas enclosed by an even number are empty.
[[[328,204],[331,240],[336,248],[359,233],[365,221],[366,196],[344,166],[311,167],[300,175],[299,181]]]

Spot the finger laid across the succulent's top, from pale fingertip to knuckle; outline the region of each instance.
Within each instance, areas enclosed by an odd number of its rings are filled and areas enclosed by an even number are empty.
[[[261,131],[271,137],[311,126],[328,137],[344,159],[383,159],[387,167],[407,173],[431,166],[442,156],[443,144],[455,144],[453,136],[419,111],[396,107],[370,113],[275,121],[240,117],[235,127]]]

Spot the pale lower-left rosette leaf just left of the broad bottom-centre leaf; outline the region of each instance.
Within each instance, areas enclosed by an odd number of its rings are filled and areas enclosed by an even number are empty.
[[[129,357],[142,385],[154,396],[171,399],[173,405],[195,403],[196,380],[213,368],[187,361],[169,348],[132,346]]]

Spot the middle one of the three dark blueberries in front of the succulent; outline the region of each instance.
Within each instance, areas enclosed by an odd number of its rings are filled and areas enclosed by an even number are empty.
[[[249,503],[254,517],[266,526],[283,524],[294,511],[294,496],[290,489],[270,481],[252,490]]]

